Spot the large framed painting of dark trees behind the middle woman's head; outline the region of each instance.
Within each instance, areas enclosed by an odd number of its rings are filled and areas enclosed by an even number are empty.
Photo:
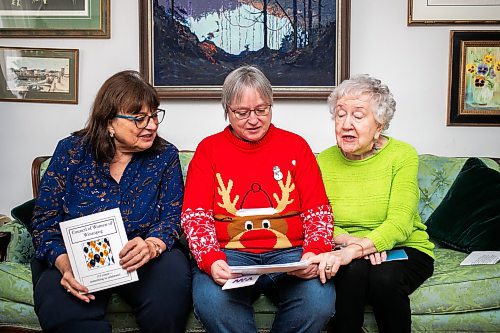
[[[324,98],[349,75],[350,0],[146,0],[140,68],[160,97],[217,98],[258,66],[277,98]]]

